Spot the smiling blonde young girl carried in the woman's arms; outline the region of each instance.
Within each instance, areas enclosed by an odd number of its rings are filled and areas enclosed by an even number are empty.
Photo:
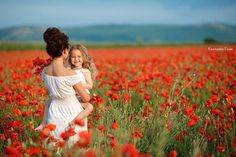
[[[96,66],[89,55],[87,49],[83,45],[74,45],[71,47],[69,52],[69,68],[75,70],[77,75],[81,79],[81,83],[85,88],[86,92],[89,94],[89,89],[93,87],[93,81],[97,75]],[[86,117],[92,112],[93,105],[90,103],[85,103],[81,99],[80,95],[77,94],[77,98],[83,106],[84,110],[78,114],[78,116],[69,124],[70,127],[75,127],[76,121],[84,121],[84,129],[87,130],[87,119]],[[42,123],[35,129],[36,131],[41,131],[46,126],[46,119],[48,115],[48,108],[51,100],[46,101],[44,116]]]

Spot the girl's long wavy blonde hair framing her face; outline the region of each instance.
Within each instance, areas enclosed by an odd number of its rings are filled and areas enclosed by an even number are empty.
[[[71,63],[71,53],[73,50],[79,50],[81,52],[82,57],[83,57],[82,67],[85,69],[88,69],[91,72],[92,80],[95,81],[96,76],[98,75],[98,70],[87,48],[83,46],[82,44],[71,46],[70,51],[69,51],[69,63],[72,69],[75,68],[75,66]]]

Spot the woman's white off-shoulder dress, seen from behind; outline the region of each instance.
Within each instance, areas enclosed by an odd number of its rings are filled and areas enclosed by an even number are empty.
[[[42,71],[42,79],[46,83],[51,97],[47,123],[56,125],[56,129],[51,132],[55,139],[60,140],[61,133],[69,129],[69,123],[84,110],[73,88],[73,85],[81,82],[82,77],[82,74],[50,76],[45,73],[45,69]],[[87,125],[75,127],[76,133],[86,130]],[[74,143],[78,139],[79,136],[76,134],[69,141]]]

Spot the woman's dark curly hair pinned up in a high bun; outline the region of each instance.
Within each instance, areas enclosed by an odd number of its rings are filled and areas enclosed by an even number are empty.
[[[69,48],[68,36],[58,28],[48,28],[43,34],[43,39],[46,42],[46,51],[52,58],[60,57],[62,51]]]

